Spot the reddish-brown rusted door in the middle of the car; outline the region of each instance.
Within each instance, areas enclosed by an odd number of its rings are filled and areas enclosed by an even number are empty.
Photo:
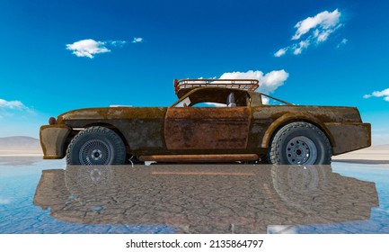
[[[166,148],[208,153],[246,148],[250,114],[248,106],[169,107],[164,121]]]

